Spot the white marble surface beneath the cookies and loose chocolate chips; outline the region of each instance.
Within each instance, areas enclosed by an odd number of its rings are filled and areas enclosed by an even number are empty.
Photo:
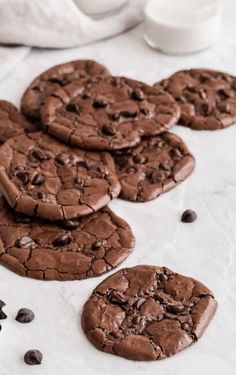
[[[224,3],[224,28],[208,51],[182,57],[161,55],[144,44],[140,27],[80,49],[34,50],[0,82],[0,97],[19,104],[24,88],[36,74],[74,58],[95,58],[114,74],[148,83],[180,68],[196,66],[236,75],[235,0]],[[213,289],[219,310],[204,337],[190,349],[161,362],[138,363],[101,353],[83,335],[80,314],[92,289],[106,276],[42,282],[24,279],[0,266],[0,297],[7,302],[9,316],[0,333],[0,375],[236,373],[236,126],[217,132],[176,127],[174,132],[183,137],[196,156],[194,174],[153,202],[116,200],[111,207],[131,224],[137,238],[134,253],[122,266],[165,265]],[[186,208],[198,213],[198,220],[191,225],[179,221]],[[14,321],[20,307],[35,311],[33,323],[20,325]],[[22,360],[31,348],[44,354],[39,367],[27,367]]]

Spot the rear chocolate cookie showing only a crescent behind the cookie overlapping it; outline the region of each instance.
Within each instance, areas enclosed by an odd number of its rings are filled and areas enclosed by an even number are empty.
[[[21,109],[27,116],[40,118],[45,98],[70,82],[82,82],[88,77],[108,76],[108,69],[92,60],[77,60],[54,66],[33,80],[21,100]]]

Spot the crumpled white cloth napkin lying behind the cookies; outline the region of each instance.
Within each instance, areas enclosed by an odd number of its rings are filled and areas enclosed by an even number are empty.
[[[92,43],[138,24],[141,3],[130,1],[116,15],[93,20],[73,0],[0,0],[0,45],[70,48]],[[27,47],[0,47],[0,79],[28,52]]]

